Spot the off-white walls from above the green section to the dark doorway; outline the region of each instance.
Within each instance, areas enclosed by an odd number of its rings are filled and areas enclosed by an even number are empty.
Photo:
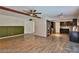
[[[28,22],[30,18],[33,19],[34,23]],[[0,26],[24,26],[25,34],[34,33],[35,35],[46,37],[47,35],[46,25],[47,24],[45,19],[38,19],[38,18],[27,17],[27,16],[26,18],[21,18],[21,17],[13,17],[13,16],[0,14]]]

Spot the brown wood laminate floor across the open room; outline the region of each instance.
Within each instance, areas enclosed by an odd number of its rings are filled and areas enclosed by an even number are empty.
[[[72,43],[71,43],[72,44]],[[47,38],[35,35],[0,39],[0,52],[5,53],[63,53],[70,50],[68,35],[51,35]]]

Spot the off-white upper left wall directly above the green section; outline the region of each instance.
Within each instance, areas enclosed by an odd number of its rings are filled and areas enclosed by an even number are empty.
[[[19,17],[0,14],[0,26],[24,26],[24,20],[25,19]]]

